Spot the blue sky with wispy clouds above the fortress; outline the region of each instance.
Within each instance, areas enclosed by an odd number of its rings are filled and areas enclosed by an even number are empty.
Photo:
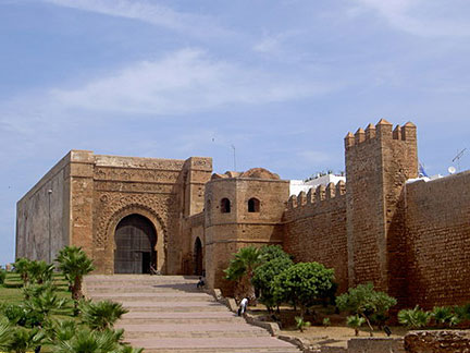
[[[304,179],[344,170],[346,133],[385,118],[446,173],[469,57],[468,0],[0,0],[0,264],[16,200],[70,149],[224,172],[233,145],[238,170]]]

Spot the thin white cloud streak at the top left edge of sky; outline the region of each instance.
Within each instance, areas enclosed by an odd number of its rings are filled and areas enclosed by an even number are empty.
[[[185,34],[213,37],[227,34],[211,17],[185,12],[149,1],[134,0],[42,0],[59,7],[143,21]]]

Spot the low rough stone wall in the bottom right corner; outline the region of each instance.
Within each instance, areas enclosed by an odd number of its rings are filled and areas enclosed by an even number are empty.
[[[405,337],[408,353],[468,353],[469,331],[411,331]]]

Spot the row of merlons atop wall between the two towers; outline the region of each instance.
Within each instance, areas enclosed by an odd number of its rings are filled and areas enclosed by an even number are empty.
[[[300,208],[302,206],[321,205],[324,202],[346,194],[346,183],[338,181],[325,185],[319,185],[317,188],[310,188],[308,193],[300,192],[298,195],[292,195],[287,202],[287,209]]]

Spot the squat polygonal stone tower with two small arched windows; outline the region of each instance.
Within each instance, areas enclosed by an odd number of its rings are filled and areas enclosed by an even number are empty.
[[[212,175],[205,197],[205,261],[210,288],[233,294],[223,270],[242,247],[282,244],[281,220],[288,193],[288,181],[262,168]]]

